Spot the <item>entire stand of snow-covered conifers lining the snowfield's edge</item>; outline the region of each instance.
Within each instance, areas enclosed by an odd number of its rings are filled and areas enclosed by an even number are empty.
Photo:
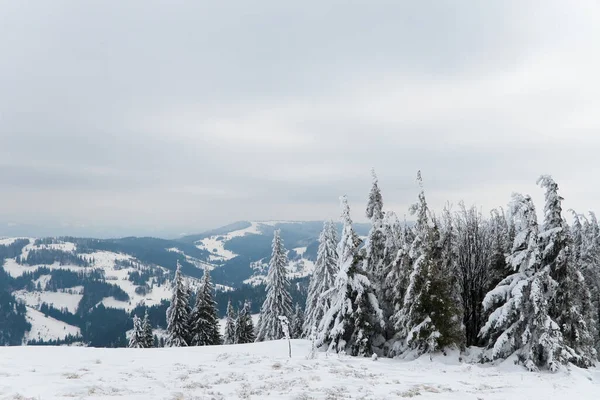
[[[277,340],[285,336],[279,319],[287,317],[292,338],[329,353],[413,359],[475,349],[479,362],[515,357],[530,371],[593,366],[600,351],[600,226],[591,212],[563,210],[550,176],[537,183],[545,193],[541,221],[531,197],[518,193],[489,216],[462,203],[436,213],[419,172],[409,224],[384,208],[373,172],[368,236],[356,234],[342,197],[341,237],[333,221],[324,223],[304,307],[292,304],[287,251],[276,231],[257,326],[247,304],[238,313],[229,304],[221,337],[208,271],[191,304],[178,270],[167,345]],[[144,347],[152,334],[139,319],[134,326],[130,346]]]

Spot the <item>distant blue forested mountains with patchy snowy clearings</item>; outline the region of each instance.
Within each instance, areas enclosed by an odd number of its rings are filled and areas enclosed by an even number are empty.
[[[241,221],[176,240],[151,237],[0,239],[0,345],[123,346],[133,314],[164,327],[177,263],[194,287],[204,268],[227,301],[258,312],[275,229],[289,249],[294,301],[304,302],[322,222]],[[366,235],[369,227],[358,224]]]

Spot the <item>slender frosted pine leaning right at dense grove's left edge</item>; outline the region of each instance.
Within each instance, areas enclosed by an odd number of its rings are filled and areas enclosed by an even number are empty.
[[[317,262],[306,297],[304,335],[309,335],[313,327],[319,326],[323,315],[331,307],[331,296],[324,294],[333,287],[337,274],[337,243],[335,224],[333,221],[326,221],[319,236]]]

